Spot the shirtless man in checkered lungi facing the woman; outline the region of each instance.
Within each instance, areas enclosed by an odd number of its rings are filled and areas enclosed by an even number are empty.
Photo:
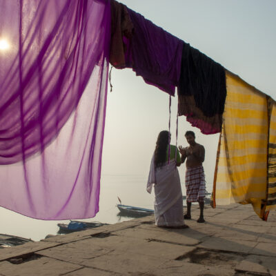
[[[199,202],[200,215],[197,222],[205,222],[204,220],[204,200],[205,200],[205,175],[202,163],[204,162],[205,149],[195,142],[195,132],[187,131],[185,134],[187,142],[190,146],[182,148],[179,146],[179,152],[181,153],[181,161],[186,161],[186,201],[187,201],[187,213],[184,215],[184,219],[191,219],[190,208],[192,202]]]

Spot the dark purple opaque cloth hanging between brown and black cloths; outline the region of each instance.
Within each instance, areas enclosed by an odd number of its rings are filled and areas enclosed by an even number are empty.
[[[181,71],[183,41],[128,8],[134,26],[127,67],[144,81],[175,95]]]

